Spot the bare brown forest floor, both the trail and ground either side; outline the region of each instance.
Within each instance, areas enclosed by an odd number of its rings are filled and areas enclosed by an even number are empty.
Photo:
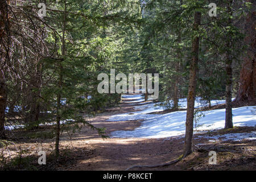
[[[142,104],[142,103],[140,103]],[[121,103],[109,108],[104,113],[89,119],[96,127],[105,127],[106,135],[117,130],[134,130],[141,126],[139,121],[109,122],[107,119],[120,113],[129,113],[137,104]],[[226,133],[248,133],[256,131],[255,127],[234,127],[231,130],[217,130],[211,136]],[[71,136],[72,135],[72,136]],[[195,152],[167,167],[133,168],[134,170],[256,170],[256,140],[242,141],[210,141],[207,138],[193,139]],[[107,138],[102,139],[97,131],[82,127],[79,133],[63,133],[60,140],[61,157],[58,162],[53,160],[54,140],[17,140],[15,147],[10,146],[9,152],[15,153],[15,148],[22,148],[23,156],[34,155],[33,165],[46,170],[125,170],[134,165],[154,165],[170,162],[179,158],[184,146],[184,137],[148,139],[148,138]],[[47,164],[39,166],[37,152],[47,153]],[[217,152],[217,164],[210,165],[209,151]],[[16,159],[19,162],[19,158]],[[31,160],[30,160],[31,162]],[[19,168],[24,167],[24,162]],[[26,167],[27,168],[27,167]],[[30,169],[30,168],[27,168]]]

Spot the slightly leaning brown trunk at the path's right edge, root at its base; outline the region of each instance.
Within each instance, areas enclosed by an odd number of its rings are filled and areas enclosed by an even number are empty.
[[[196,12],[194,16],[193,30],[198,31],[201,21],[201,13]],[[193,119],[196,97],[196,73],[199,59],[199,36],[196,36],[192,42],[192,60],[189,72],[189,86],[187,97],[187,117],[186,117],[186,131],[183,158],[192,152],[192,137],[193,137]]]

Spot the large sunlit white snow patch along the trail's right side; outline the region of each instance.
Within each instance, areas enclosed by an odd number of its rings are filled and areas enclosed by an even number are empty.
[[[125,96],[129,98],[129,95]],[[135,97],[133,95],[133,97]],[[139,96],[142,97],[142,96]],[[137,98],[138,100],[140,98]],[[185,99],[179,100],[182,105]],[[214,104],[225,103],[225,101],[213,101]],[[133,113],[113,115],[108,121],[136,121],[142,119],[142,125],[132,131],[113,131],[112,137],[118,138],[168,138],[185,134],[186,111],[175,111],[167,114],[147,114],[152,111],[162,111],[160,106],[154,107],[154,103],[135,106]],[[184,104],[183,104],[184,105]],[[200,103],[196,104],[200,107]],[[255,126],[256,115],[253,113],[255,106],[233,108],[234,126]],[[222,129],[225,125],[225,109],[202,111],[205,117],[200,118],[197,130]],[[253,134],[255,135],[255,133]]]

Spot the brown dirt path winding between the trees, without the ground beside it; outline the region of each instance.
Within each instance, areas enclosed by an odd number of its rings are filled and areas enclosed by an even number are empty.
[[[133,94],[134,97],[141,94]],[[139,101],[139,102],[137,102]],[[150,101],[148,101],[150,102]],[[96,127],[105,127],[106,135],[117,130],[134,130],[139,121],[109,122],[114,114],[137,111],[134,106],[143,105],[138,98],[123,98],[119,106],[91,118]],[[68,138],[63,138],[64,143]],[[76,164],[69,170],[125,170],[133,165],[152,165],[171,161],[182,154],[183,139],[108,138],[103,140],[96,131],[84,127],[72,136],[72,146],[77,151]],[[168,160],[167,160],[168,159]],[[164,168],[163,168],[164,169]]]

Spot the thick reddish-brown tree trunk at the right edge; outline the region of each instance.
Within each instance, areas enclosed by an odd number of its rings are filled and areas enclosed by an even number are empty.
[[[248,46],[245,57],[243,58],[243,66],[240,72],[240,86],[238,89],[234,104],[256,104],[256,1],[249,0],[253,3],[250,13],[246,16],[245,23],[245,44]]]

